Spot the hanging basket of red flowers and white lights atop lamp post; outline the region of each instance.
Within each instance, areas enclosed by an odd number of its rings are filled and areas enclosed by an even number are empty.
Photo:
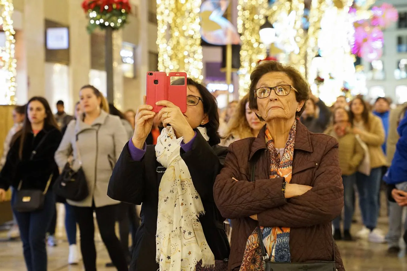
[[[131,12],[129,0],[84,0],[82,8],[89,16],[89,33],[96,27],[118,30],[126,24]]]

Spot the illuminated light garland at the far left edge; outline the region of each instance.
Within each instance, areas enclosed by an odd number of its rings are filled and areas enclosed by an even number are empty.
[[[11,15],[13,14],[14,6],[12,0],[0,0],[0,6],[2,7],[2,24],[3,30],[6,36],[6,47],[5,54],[3,57],[4,70],[7,70],[7,89],[6,89],[6,100],[9,105],[15,104],[15,75],[16,75],[16,62],[15,59],[15,31],[13,28],[13,20],[11,20]]]

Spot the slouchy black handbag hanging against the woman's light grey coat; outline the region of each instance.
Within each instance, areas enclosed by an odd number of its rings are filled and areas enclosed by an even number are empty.
[[[82,169],[82,159],[78,148],[78,138],[75,141],[79,169],[74,171],[69,163],[66,163],[63,168],[62,173],[59,175],[58,179],[55,181],[53,186],[53,191],[59,197],[73,200],[75,202],[80,202],[89,195],[88,182],[86,181],[85,173]]]

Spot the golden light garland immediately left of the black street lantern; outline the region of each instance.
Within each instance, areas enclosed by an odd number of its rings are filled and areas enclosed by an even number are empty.
[[[260,26],[265,23],[267,0],[239,0],[237,30],[241,34],[239,69],[239,98],[249,91],[250,74],[259,59],[266,56],[266,48],[260,42]]]

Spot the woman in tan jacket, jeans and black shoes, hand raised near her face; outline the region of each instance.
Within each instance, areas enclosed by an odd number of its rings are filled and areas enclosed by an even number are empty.
[[[349,122],[349,113],[344,108],[336,108],[333,113],[333,126],[325,131],[335,137],[339,142],[339,167],[342,170],[342,182],[344,184],[344,231],[341,233],[341,216],[333,220],[335,240],[352,241],[350,226],[354,211],[354,184],[357,167],[361,163],[364,152],[352,132]]]

